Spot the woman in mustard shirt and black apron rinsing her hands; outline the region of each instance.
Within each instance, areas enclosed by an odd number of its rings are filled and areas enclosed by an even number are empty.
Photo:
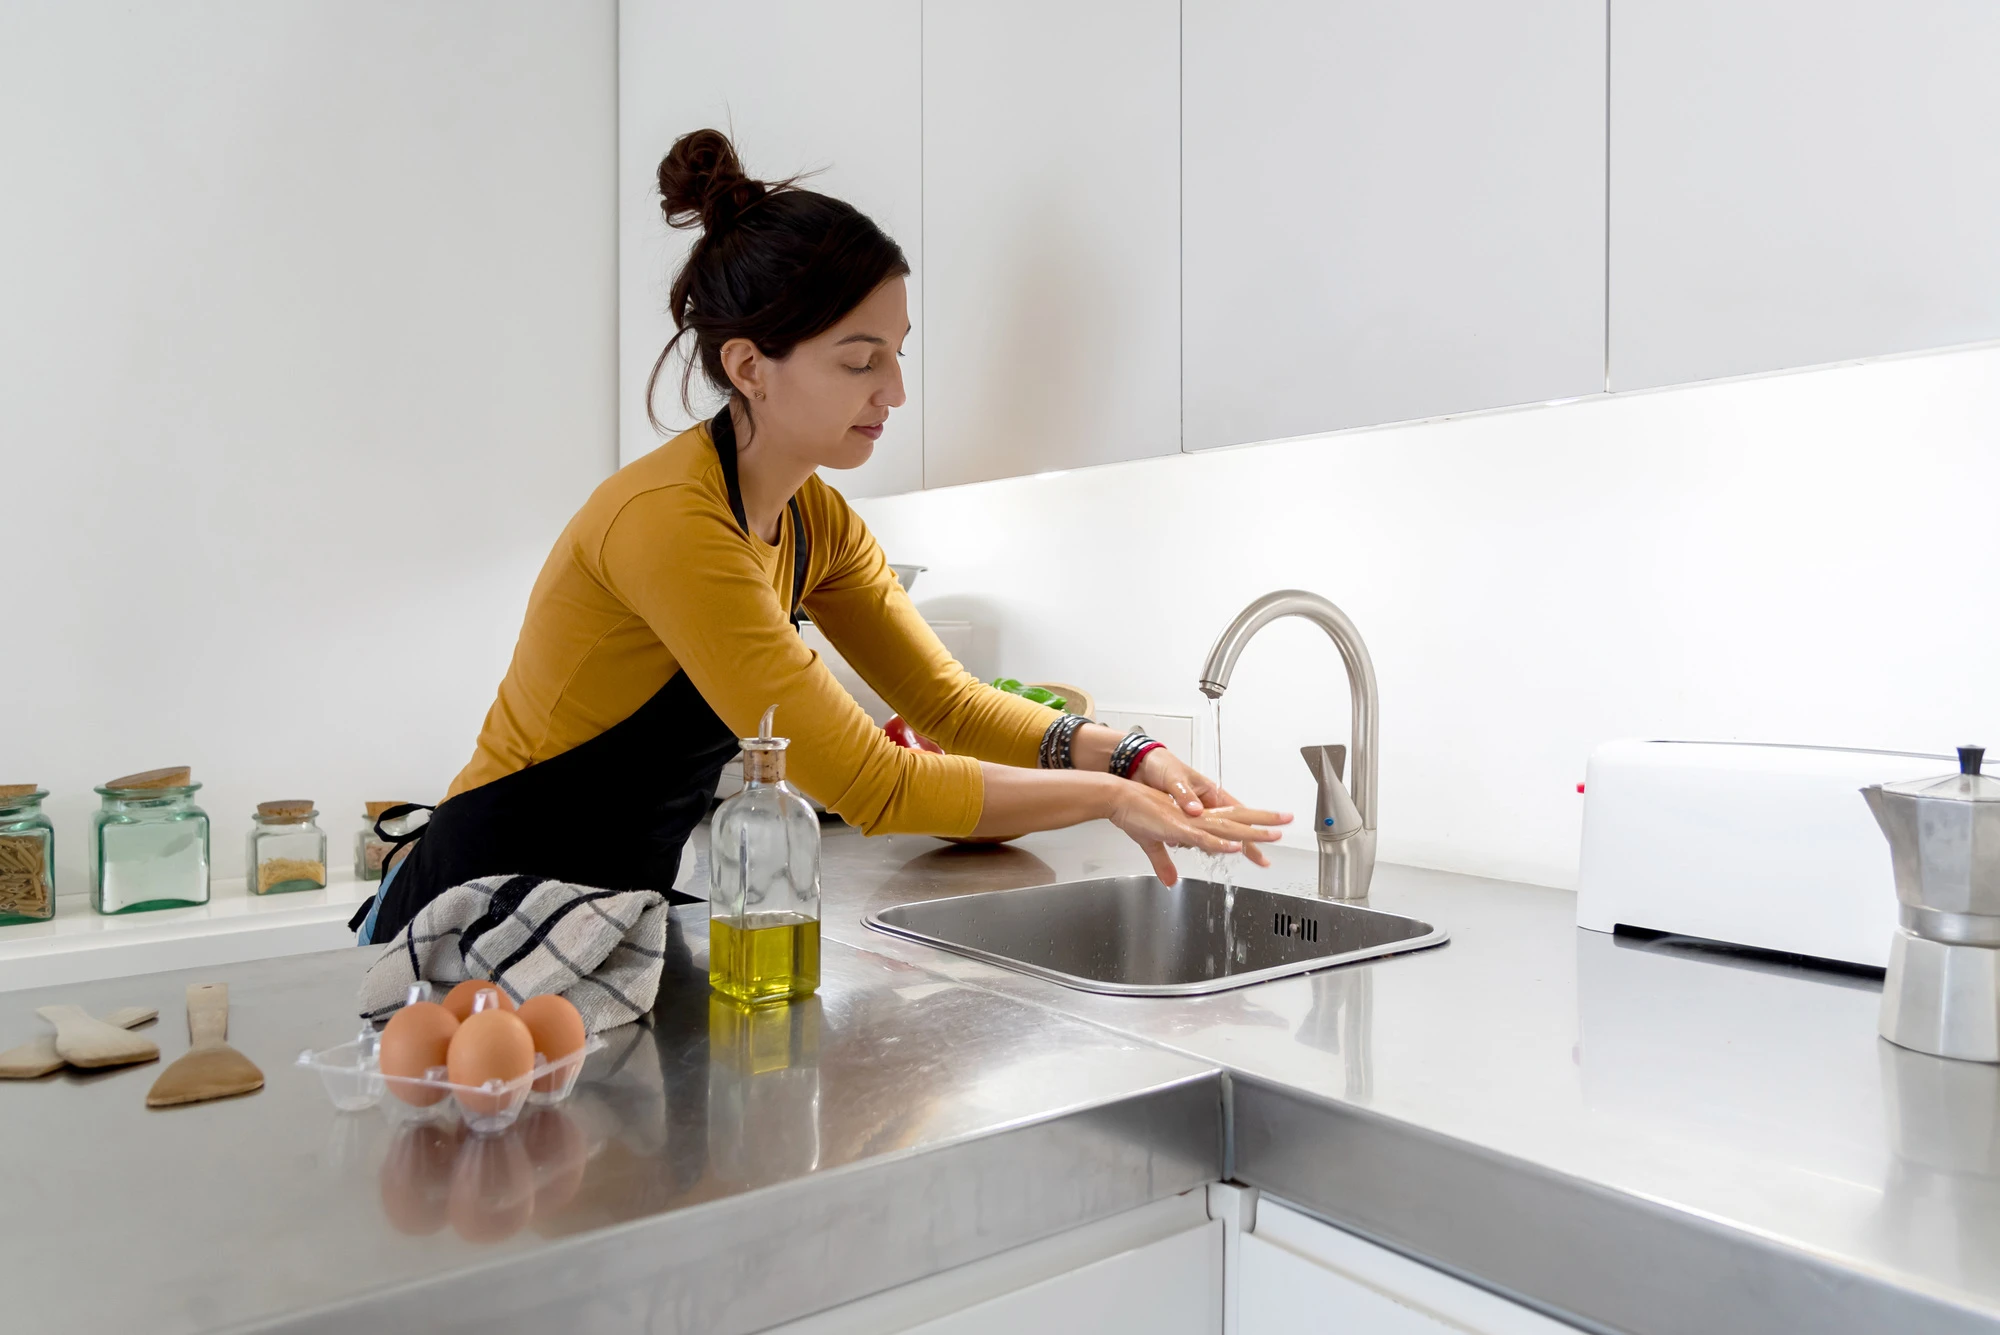
[[[772,703],[790,779],[866,833],[1012,835],[1104,817],[1166,881],[1168,845],[1262,863],[1256,845],[1288,815],[1236,807],[1158,743],[1052,721],[976,681],[816,476],[866,462],[904,402],[910,264],[896,242],[840,200],[746,178],[716,130],[682,136],[658,180],[666,222],[702,236],[674,278],[678,334],[652,380],[692,340],[688,376],[700,366],[728,406],[570,520],[472,763],[384,881],[362,939],[390,939],[478,875],[668,891],[736,739]],[[868,719],[796,634],[802,608],[946,755],[898,747]]]

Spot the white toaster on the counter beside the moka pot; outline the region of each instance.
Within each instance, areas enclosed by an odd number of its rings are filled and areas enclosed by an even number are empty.
[[[1888,965],[1896,877],[1864,783],[1948,755],[1744,741],[1606,741],[1584,775],[1576,925]]]

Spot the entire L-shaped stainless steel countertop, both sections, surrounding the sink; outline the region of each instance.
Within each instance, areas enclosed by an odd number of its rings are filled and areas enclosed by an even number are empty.
[[[232,985],[232,1041],[270,1077],[250,1099],[146,1113],[158,1067],[0,1083],[10,1317],[748,1331],[1228,1167],[1592,1329],[2000,1325],[2000,1069],[1884,1045],[1868,979],[1632,947],[1578,931],[1564,891],[1384,865],[1372,903],[1448,945],[1208,997],[1092,995],[860,919],[1142,869],[1116,831],[826,833],[816,1003],[782,1031],[710,1031],[696,911],[654,1027],[592,1059],[526,1159],[430,1147],[442,1199],[402,1191],[422,1143],[332,1113],[288,1065],[348,1037],[366,951],[200,971]],[[1304,891],[1312,857],[1242,875]],[[192,977],[20,993],[0,1045],[36,1003],[148,1003],[172,1059]],[[524,1163],[548,1203],[520,1227]]]

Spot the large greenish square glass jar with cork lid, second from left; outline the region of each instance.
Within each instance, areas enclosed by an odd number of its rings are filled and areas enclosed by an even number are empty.
[[[98,789],[90,815],[90,901],[98,913],[208,903],[208,811],[186,765],[148,769]]]

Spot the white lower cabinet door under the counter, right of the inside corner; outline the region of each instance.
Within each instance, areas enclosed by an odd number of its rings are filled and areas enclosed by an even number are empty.
[[[1264,1199],[1230,1281],[1238,1335],[1574,1335],[1542,1313]]]

